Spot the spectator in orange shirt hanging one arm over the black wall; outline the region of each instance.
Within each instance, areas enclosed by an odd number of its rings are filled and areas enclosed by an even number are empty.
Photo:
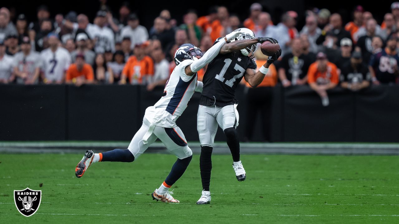
[[[322,99],[323,106],[330,104],[327,90],[335,88],[338,82],[336,65],[328,61],[325,53],[317,53],[316,62],[312,63],[308,69],[308,83]]]

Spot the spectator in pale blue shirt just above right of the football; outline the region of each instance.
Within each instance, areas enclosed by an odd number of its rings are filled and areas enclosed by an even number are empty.
[[[271,37],[279,40],[281,56],[290,52],[291,37],[289,31],[291,28],[295,27],[295,24],[295,19],[290,16],[290,14],[284,13],[281,22],[273,29],[273,35],[271,35]]]

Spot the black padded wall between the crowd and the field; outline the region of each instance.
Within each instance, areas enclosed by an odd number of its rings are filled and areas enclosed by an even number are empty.
[[[397,142],[399,86],[373,86],[360,92],[336,88],[330,105],[308,86],[273,90],[272,141]],[[140,128],[144,111],[163,95],[163,87],[144,86],[0,85],[0,140],[130,140]],[[245,87],[236,92],[239,136],[243,140]],[[187,140],[198,141],[195,93],[177,124]],[[261,116],[261,115],[259,115]],[[255,124],[254,140],[261,140]],[[216,141],[224,141],[220,130]]]

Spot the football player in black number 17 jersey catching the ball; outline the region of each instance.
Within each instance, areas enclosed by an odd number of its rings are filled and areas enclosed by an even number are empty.
[[[253,60],[253,53],[257,49],[257,43],[270,41],[278,43],[277,40],[269,37],[255,38],[253,31],[247,28],[236,29],[243,32],[235,40],[247,39],[250,45],[235,45],[232,41],[225,44],[211,63],[208,64],[205,75],[203,76],[203,91],[199,99],[197,116],[197,130],[201,143],[201,156],[199,167],[201,170],[202,195],[197,204],[209,204],[211,195],[209,183],[212,169],[212,149],[213,140],[219,125],[227,138],[231,155],[233,156],[233,169],[238,181],[245,180],[245,170],[240,160],[240,143],[236,128],[238,126],[239,115],[237,112],[237,100],[235,89],[243,77],[252,87],[259,85],[269,69],[269,65],[277,60],[281,55],[281,49],[275,55],[269,57],[267,63],[255,71],[257,65]],[[223,41],[224,37],[217,41]],[[233,48],[233,50],[232,50]]]

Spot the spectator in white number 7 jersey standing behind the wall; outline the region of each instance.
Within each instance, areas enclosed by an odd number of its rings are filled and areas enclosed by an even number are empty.
[[[61,84],[65,79],[65,71],[71,65],[71,55],[65,48],[59,47],[59,37],[56,33],[49,33],[47,37],[50,47],[40,53],[44,83]]]

